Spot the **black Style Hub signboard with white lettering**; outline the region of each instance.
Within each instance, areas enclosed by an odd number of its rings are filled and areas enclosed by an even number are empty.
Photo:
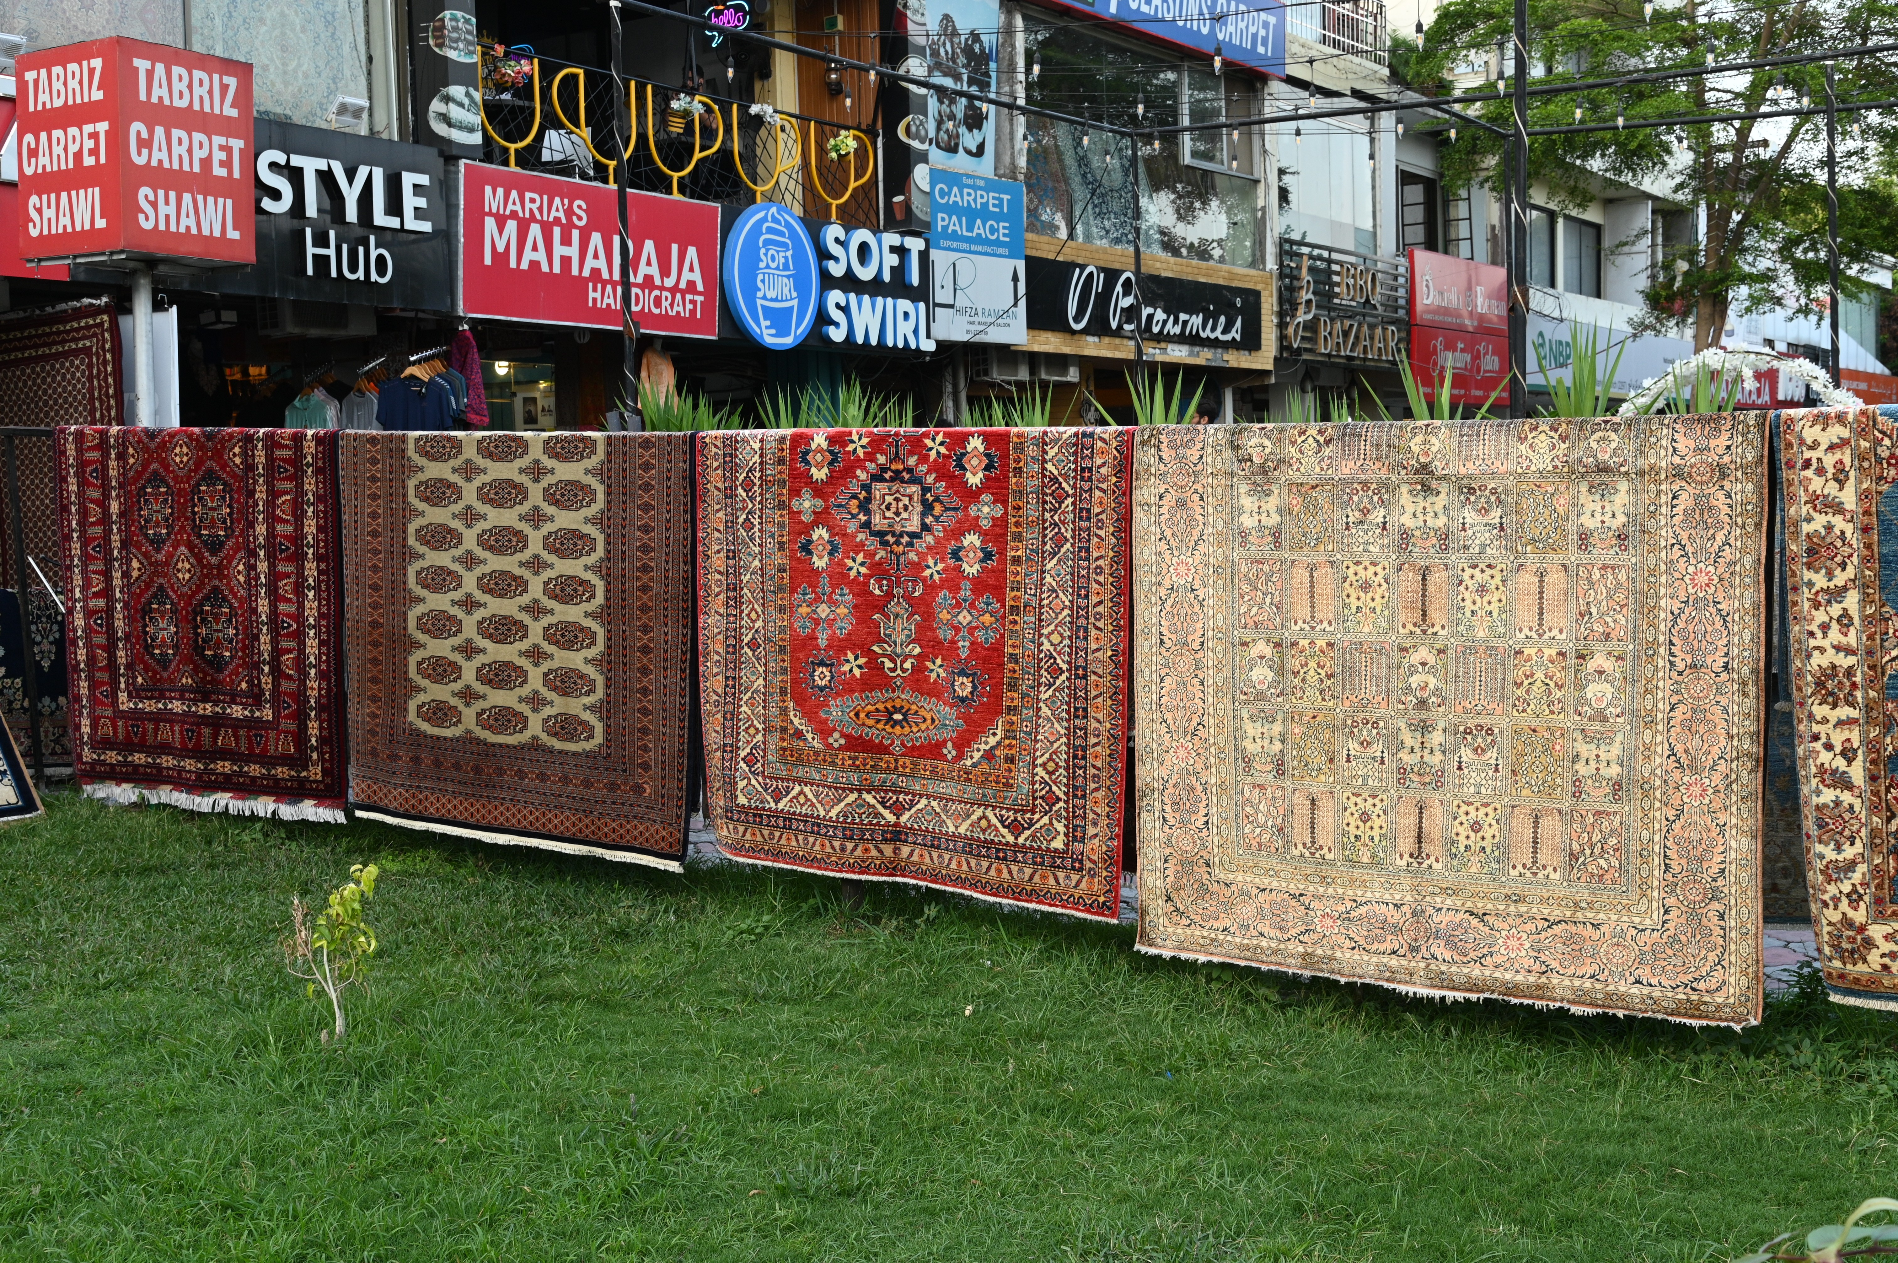
[[[347,131],[256,120],[256,266],[224,294],[452,311],[442,156]]]

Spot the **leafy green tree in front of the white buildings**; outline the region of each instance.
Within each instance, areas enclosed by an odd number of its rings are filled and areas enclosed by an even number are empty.
[[[1498,51],[1511,74],[1513,15],[1513,0],[1442,4],[1424,47],[1403,63],[1410,87],[1446,95],[1461,78],[1469,91],[1471,66],[1480,74]],[[1651,17],[1640,0],[1530,0],[1530,72],[1535,84],[1560,84],[1704,68],[1708,57],[1725,65],[1814,53],[1890,42],[1894,30],[1894,0],[1680,0],[1657,4]],[[1835,72],[1841,103],[1898,97],[1892,55],[1845,57]],[[1573,125],[1577,108],[1583,123],[1611,123],[1617,114],[1693,118],[1797,108],[1805,99],[1818,106],[1824,97],[1824,65],[1811,63],[1530,97],[1530,127]],[[1471,112],[1505,131],[1513,125],[1507,99]],[[1873,175],[1894,137],[1898,125],[1885,112],[1841,114],[1839,247],[1849,291],[1864,289],[1849,279],[1854,266],[1898,245],[1898,186]],[[1704,211],[1701,239],[1670,253],[1647,304],[1657,315],[1691,315],[1695,349],[1706,349],[1720,342],[1735,300],[1742,310],[1786,296],[1824,306],[1824,116],[1532,137],[1530,179],[1547,180],[1558,207],[1592,201],[1606,177],[1670,188],[1676,201]],[[1442,146],[1446,186],[1499,175],[1503,146],[1503,137],[1461,127]]]

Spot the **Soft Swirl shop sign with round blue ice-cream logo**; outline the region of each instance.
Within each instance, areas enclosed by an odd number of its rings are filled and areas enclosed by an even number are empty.
[[[801,220],[772,201],[725,237],[725,304],[752,342],[934,351],[928,237]]]

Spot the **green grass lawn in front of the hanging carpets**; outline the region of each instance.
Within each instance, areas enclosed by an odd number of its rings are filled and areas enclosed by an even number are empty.
[[[1746,1035],[1439,1005],[70,796],[0,857],[6,1259],[1720,1259],[1898,1193],[1898,1020],[1809,990]],[[277,944],[364,860],[330,1048]]]

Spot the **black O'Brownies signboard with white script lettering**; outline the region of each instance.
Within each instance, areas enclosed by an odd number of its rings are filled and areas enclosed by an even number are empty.
[[[1256,289],[1186,281],[1061,258],[1029,258],[1029,329],[1133,338],[1148,344],[1256,351],[1264,304]],[[1135,296],[1137,294],[1137,296]]]

